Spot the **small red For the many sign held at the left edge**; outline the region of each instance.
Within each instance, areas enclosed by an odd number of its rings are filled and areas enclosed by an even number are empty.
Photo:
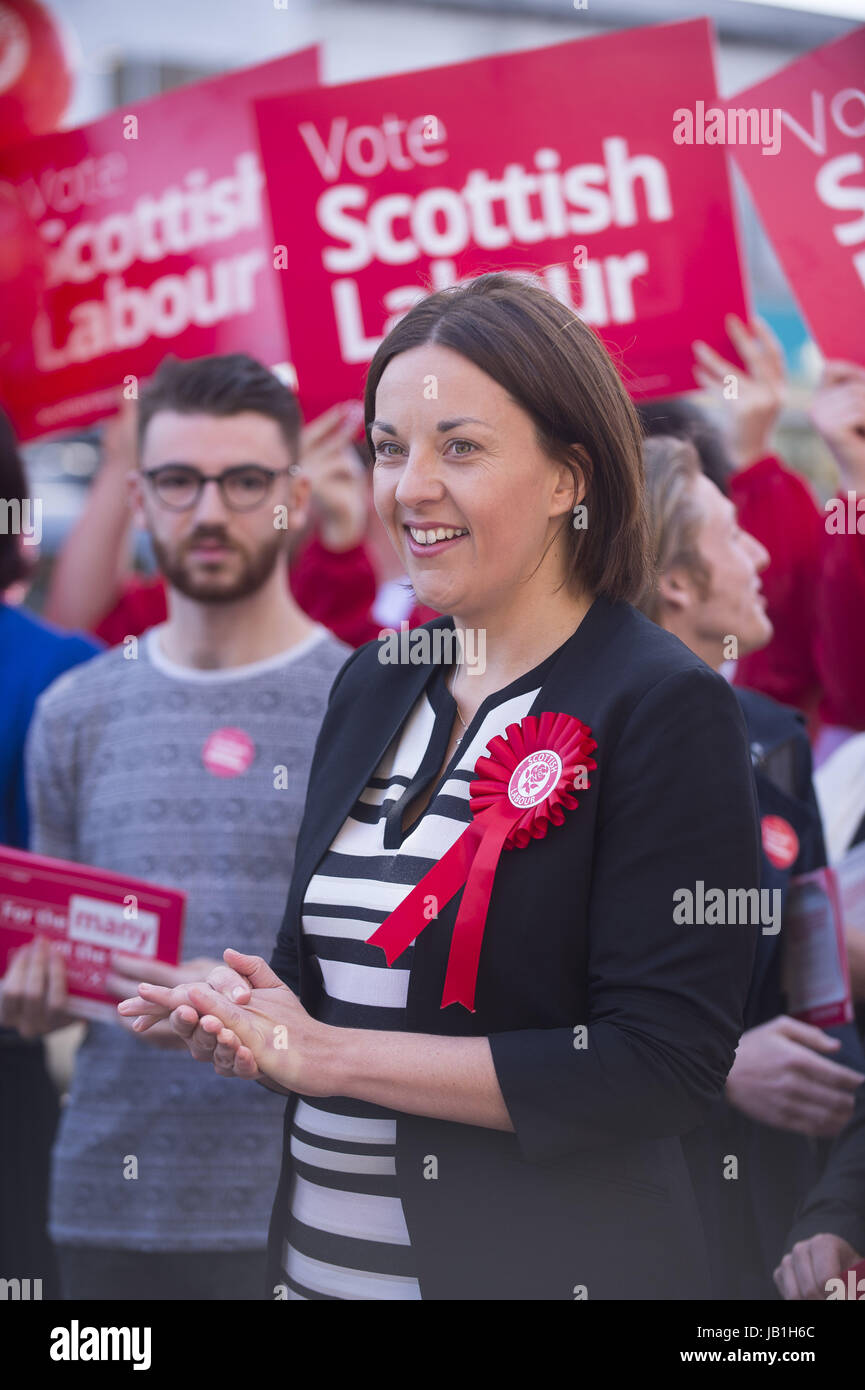
[[[178,965],[186,894],[107,869],[0,845],[0,976],[40,935],[65,959],[68,1012],[117,1023],[114,952]],[[129,991],[132,992],[132,990]]]

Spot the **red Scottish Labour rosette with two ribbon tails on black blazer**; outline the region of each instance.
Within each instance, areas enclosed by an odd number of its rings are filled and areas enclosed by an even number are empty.
[[[474,1013],[477,965],[490,895],[502,849],[524,849],[560,826],[579,806],[576,788],[590,785],[598,764],[591,728],[573,714],[527,714],[496,734],[474,764],[471,824],[369,938],[394,965],[430,926],[430,897],[442,908],[463,888],[453,926],[441,1008],[462,1004]]]

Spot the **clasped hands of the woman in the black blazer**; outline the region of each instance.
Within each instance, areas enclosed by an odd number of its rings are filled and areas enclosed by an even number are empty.
[[[174,988],[142,983],[117,1011],[134,1017],[135,1033],[163,1019],[197,1062],[220,1076],[271,1080],[289,1091],[323,1095],[320,1058],[327,1024],[310,1017],[296,994],[261,956],[228,948],[206,980]]]

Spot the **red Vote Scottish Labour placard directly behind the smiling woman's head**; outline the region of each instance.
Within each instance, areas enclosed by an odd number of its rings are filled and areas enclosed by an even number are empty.
[[[488,270],[541,270],[634,396],[695,389],[694,338],[736,360],[725,152],[673,142],[713,92],[697,19],[256,101],[307,413],[360,393],[430,288]]]

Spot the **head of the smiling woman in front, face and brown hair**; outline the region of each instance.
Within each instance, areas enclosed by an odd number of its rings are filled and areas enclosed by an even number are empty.
[[[423,603],[449,613],[463,598],[449,570],[409,563],[446,552],[470,577],[464,600],[484,610],[516,555],[526,570],[542,555],[572,596],[640,591],[638,423],[597,335],[552,295],[508,275],[431,295],[373,359],[364,409],[375,506]],[[580,531],[567,524],[577,503],[588,514]],[[469,506],[474,530],[459,514]],[[469,534],[446,539],[448,528]]]

